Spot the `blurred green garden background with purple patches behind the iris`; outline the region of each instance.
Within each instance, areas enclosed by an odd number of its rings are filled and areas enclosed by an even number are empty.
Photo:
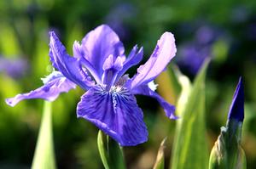
[[[164,31],[176,37],[177,57],[170,67],[195,78],[203,59],[212,58],[206,83],[206,123],[209,149],[224,126],[239,76],[245,83],[245,121],[242,147],[247,168],[256,166],[256,1],[236,0],[1,0],[0,1],[0,168],[30,168],[38,137],[43,100],[29,100],[15,108],[4,99],[40,87],[52,70],[48,31],[53,30],[72,54],[97,25],[117,32],[128,54],[133,45],[144,47],[144,60]],[[136,68],[130,71],[136,72]],[[158,92],[176,104],[168,71],[157,82]],[[96,147],[97,128],[76,117],[84,93],[77,87],[53,104],[54,142],[59,168],[103,168]],[[170,160],[175,121],[166,118],[154,99],[138,96],[148,126],[145,144],[125,148],[129,168],[150,168],[160,141],[168,136]],[[148,104],[150,103],[150,104]],[[168,165],[169,162],[166,162]]]

